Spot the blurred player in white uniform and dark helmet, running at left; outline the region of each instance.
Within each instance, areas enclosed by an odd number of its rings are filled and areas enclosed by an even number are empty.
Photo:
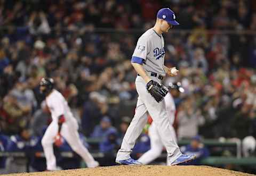
[[[84,147],[78,135],[78,123],[70,111],[66,99],[53,88],[52,78],[42,78],[40,91],[46,96],[45,102],[52,115],[52,122],[46,129],[42,139],[42,146],[46,157],[47,170],[58,170],[56,158],[53,153],[53,144],[60,146],[62,137],[67,140],[70,147],[80,155],[87,167],[97,167],[99,163]]]

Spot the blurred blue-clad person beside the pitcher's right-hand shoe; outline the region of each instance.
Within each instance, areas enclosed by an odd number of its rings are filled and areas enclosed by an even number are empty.
[[[196,156],[195,160],[182,165],[200,165],[201,160],[210,155],[209,150],[202,144],[201,140],[201,137],[195,136],[192,138],[189,145],[180,148],[182,153],[186,155],[194,154]]]

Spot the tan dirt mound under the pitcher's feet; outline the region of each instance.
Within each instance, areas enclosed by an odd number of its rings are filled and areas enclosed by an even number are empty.
[[[161,165],[146,165],[146,166],[108,166],[87,169],[75,169],[54,172],[34,172],[34,173],[19,173],[7,174],[6,176],[89,176],[89,175],[122,175],[122,176],[144,176],[144,175],[253,175],[249,173],[230,171],[219,169],[210,166],[161,166]]]

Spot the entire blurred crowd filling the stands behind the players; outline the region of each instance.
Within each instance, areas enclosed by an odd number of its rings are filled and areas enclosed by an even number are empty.
[[[0,1],[2,135],[42,137],[51,116],[38,83],[47,76],[81,135],[102,138],[99,150],[115,152],[137,102],[131,55],[166,6],[181,24],[164,35],[165,65],[180,70],[164,83],[185,89],[174,95],[178,138],[255,138],[256,35],[244,30],[256,29],[256,4],[231,0]],[[139,151],[150,144],[145,133]]]

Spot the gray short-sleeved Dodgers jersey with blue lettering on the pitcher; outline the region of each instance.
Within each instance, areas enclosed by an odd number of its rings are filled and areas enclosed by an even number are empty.
[[[164,54],[164,38],[151,28],[138,39],[132,59],[142,59],[144,63],[142,66],[146,71],[165,76],[163,69]]]

